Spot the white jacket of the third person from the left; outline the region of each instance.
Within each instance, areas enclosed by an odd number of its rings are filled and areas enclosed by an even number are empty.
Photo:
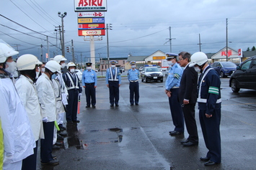
[[[37,79],[36,88],[43,118],[47,117],[47,122],[56,121],[56,97],[53,82],[43,73]]]

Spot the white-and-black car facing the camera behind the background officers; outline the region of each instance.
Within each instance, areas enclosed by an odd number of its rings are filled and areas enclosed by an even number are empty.
[[[141,72],[141,82],[148,81],[158,81],[163,82],[163,74],[160,72],[158,67],[144,67],[144,70]]]

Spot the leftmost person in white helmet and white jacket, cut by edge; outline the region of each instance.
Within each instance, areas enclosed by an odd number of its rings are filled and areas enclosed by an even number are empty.
[[[14,88],[10,73],[16,70],[12,56],[19,52],[0,39],[0,119],[4,134],[3,169],[21,169],[22,159],[33,154],[33,136],[27,112]],[[9,68],[9,72],[6,68]],[[22,142],[23,141],[23,142]],[[25,142],[24,142],[25,141]]]

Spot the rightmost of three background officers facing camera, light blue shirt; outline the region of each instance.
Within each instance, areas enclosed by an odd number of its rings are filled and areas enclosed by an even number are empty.
[[[131,105],[134,104],[138,105],[138,98],[139,98],[139,90],[138,90],[138,77],[140,72],[136,69],[136,61],[130,62],[131,69],[128,70],[128,81],[130,82],[129,89],[130,89],[130,103]]]

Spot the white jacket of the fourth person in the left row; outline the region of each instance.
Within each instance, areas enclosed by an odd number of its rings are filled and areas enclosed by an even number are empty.
[[[64,109],[63,103],[62,103],[61,84],[57,78],[53,79],[52,82],[53,82],[53,90],[54,90],[55,97],[56,97],[57,114],[64,113],[65,109]]]

